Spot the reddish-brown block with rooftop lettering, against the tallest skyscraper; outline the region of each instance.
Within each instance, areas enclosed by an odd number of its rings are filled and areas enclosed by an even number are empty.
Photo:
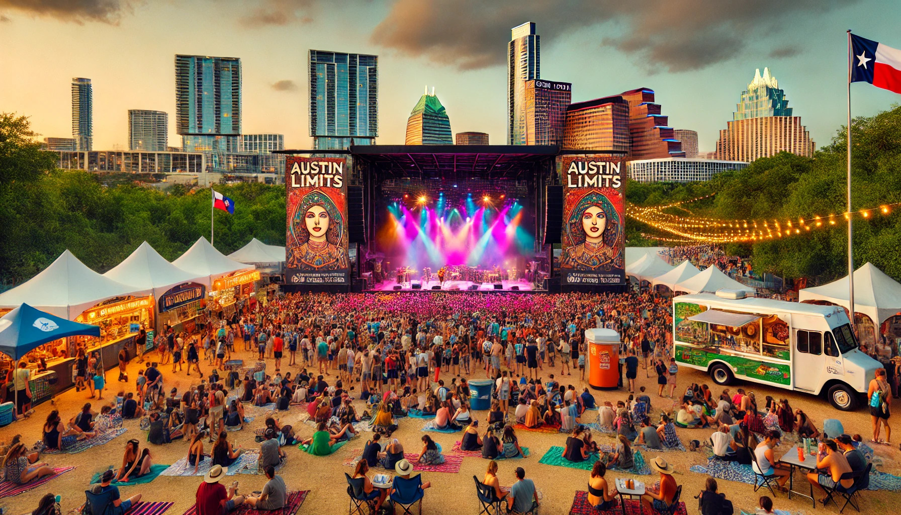
[[[572,99],[572,84],[534,79],[525,81],[523,143],[560,145],[566,110]]]

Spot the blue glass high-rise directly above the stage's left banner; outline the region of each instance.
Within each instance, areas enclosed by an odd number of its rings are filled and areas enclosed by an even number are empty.
[[[309,54],[310,135],[317,150],[371,145],[378,137],[378,56]]]

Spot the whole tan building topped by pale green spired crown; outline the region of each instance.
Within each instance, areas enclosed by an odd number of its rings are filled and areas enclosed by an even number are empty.
[[[815,143],[800,116],[792,115],[785,92],[779,89],[769,68],[754,71],[754,78],[716,142],[714,159],[754,161],[779,152],[813,157]]]

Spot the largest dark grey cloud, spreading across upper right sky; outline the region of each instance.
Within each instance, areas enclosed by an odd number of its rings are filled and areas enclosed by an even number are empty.
[[[652,71],[687,71],[730,60],[751,45],[776,45],[798,16],[857,1],[396,0],[371,40],[408,56],[481,69],[505,64],[510,28],[532,21],[545,45],[578,37],[583,46],[623,51]],[[779,51],[785,49],[774,57]]]

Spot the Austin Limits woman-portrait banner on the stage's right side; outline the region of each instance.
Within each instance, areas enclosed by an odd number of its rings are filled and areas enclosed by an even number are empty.
[[[561,155],[563,284],[625,284],[625,162],[603,155]]]

